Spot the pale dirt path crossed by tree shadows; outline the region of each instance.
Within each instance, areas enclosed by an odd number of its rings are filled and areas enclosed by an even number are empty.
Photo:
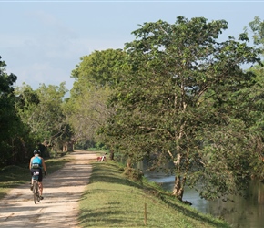
[[[44,200],[35,204],[29,184],[0,201],[0,227],[78,227],[78,201],[91,174],[96,154],[76,150],[66,166],[44,178]],[[48,167],[47,167],[48,171]]]

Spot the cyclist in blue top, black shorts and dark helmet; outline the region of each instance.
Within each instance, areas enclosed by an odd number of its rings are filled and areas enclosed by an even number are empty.
[[[40,150],[34,150],[34,156],[30,159],[29,162],[29,169],[31,172],[31,176],[33,176],[33,173],[38,171],[38,183],[39,183],[39,192],[40,192],[40,199],[43,200],[43,183],[42,183],[42,171],[44,170],[44,174],[46,176],[46,164],[42,157],[40,157],[41,152]],[[31,178],[31,186],[30,190],[33,190],[33,178]]]

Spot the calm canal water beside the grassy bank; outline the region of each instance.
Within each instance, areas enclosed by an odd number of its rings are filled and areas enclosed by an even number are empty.
[[[149,181],[162,183],[165,190],[172,191],[174,176],[159,172],[146,172]],[[215,217],[225,219],[234,228],[263,228],[264,227],[264,184],[252,181],[245,192],[247,197],[229,197],[235,202],[221,200],[208,202],[201,199],[193,189],[185,189],[183,200],[192,203],[199,212],[210,213]]]

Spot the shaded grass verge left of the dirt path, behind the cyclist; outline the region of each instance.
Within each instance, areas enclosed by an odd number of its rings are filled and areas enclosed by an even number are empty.
[[[47,173],[51,174],[54,171],[61,169],[67,162],[65,158],[48,159],[46,162]],[[19,184],[30,182],[31,175],[28,169],[28,163],[11,166],[5,166],[0,169],[0,199],[5,197],[11,189]]]

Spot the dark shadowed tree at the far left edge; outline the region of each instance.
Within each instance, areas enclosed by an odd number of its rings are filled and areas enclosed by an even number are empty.
[[[16,76],[5,72],[5,61],[0,57],[0,165],[15,164],[27,157],[26,126],[15,109],[14,84]]]

